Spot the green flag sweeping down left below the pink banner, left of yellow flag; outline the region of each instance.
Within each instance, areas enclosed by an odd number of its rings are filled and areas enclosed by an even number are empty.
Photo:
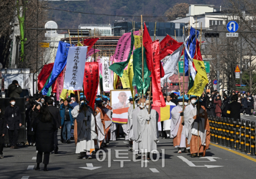
[[[108,67],[113,72],[115,72],[116,75],[122,77],[122,74],[123,74],[123,71],[124,71],[125,67],[129,64],[133,47],[134,47],[134,35],[133,35],[133,30],[131,30],[131,50],[130,50],[130,53],[128,55],[127,61],[116,62],[116,63],[113,63],[111,66]]]

